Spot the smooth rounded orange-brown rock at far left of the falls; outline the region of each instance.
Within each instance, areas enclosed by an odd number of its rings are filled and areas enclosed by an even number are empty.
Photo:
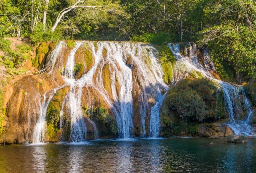
[[[37,121],[41,98],[54,83],[39,75],[24,76],[16,81],[11,89],[6,106],[6,132],[0,143],[24,143],[32,138]]]

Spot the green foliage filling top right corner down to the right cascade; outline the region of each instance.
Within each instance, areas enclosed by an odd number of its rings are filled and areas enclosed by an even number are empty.
[[[198,44],[211,49],[215,61],[228,62],[239,82],[256,79],[256,2],[224,0],[209,4],[211,8],[202,8],[213,25],[199,32]]]

